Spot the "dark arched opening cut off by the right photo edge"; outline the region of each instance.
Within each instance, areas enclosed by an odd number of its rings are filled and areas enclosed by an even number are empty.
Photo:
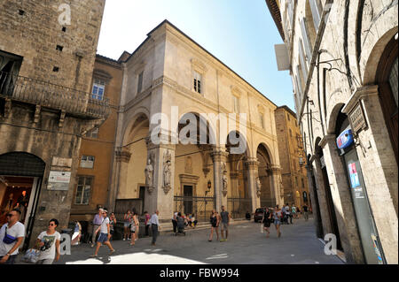
[[[397,34],[396,34],[397,35]],[[387,131],[395,152],[397,164],[398,151],[398,42],[395,36],[387,43],[387,47],[379,59],[376,74],[379,85],[379,101],[384,113]]]

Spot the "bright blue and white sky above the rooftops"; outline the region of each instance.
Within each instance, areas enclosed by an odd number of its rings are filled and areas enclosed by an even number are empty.
[[[278,106],[293,107],[288,71],[278,72],[283,43],[265,0],[106,0],[98,54],[132,53],[168,19]]]

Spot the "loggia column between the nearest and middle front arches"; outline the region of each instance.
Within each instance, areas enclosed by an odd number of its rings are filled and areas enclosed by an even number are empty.
[[[227,156],[229,156],[229,153],[225,149],[214,149],[211,153],[214,163],[215,209],[219,212],[222,210],[222,206],[227,209],[227,190],[223,189],[223,170],[227,165]]]

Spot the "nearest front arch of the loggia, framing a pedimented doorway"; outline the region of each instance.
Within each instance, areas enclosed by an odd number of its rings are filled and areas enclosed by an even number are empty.
[[[209,122],[195,112],[179,120],[175,151],[174,209],[207,221],[215,208],[211,153],[215,140]]]

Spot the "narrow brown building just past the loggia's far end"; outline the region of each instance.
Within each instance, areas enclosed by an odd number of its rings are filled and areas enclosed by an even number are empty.
[[[281,178],[283,179],[284,201],[302,207],[310,205],[309,185],[306,170],[306,156],[296,114],[287,106],[275,111],[278,135],[278,156],[280,156]],[[301,208],[300,208],[301,209]]]

